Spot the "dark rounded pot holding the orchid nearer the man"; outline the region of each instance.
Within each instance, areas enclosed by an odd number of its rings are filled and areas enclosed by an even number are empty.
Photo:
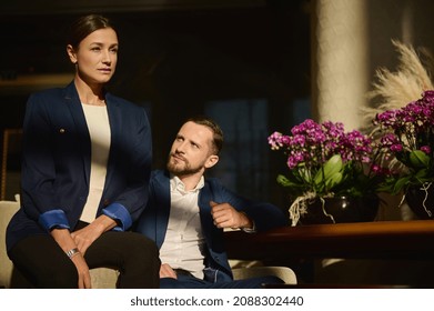
[[[315,199],[307,204],[307,212],[301,214],[299,224],[373,221],[379,203],[377,197]]]

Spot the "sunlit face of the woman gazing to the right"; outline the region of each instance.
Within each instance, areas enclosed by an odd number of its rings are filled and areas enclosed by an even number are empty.
[[[74,50],[68,46],[68,54],[77,64],[77,73],[88,84],[105,83],[114,73],[118,62],[118,36],[111,28],[93,31]]]

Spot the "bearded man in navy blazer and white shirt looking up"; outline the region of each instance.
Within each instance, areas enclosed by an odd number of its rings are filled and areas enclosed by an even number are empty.
[[[223,133],[205,118],[188,120],[173,141],[166,171],[153,171],[150,199],[135,230],[155,241],[162,262],[160,288],[261,288],[274,277],[234,281],[223,229],[268,230],[286,225],[269,203],[254,203],[204,172],[219,161]]]

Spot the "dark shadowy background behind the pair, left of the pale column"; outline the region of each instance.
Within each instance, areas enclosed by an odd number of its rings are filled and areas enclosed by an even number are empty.
[[[62,3],[46,3],[43,9],[24,2],[28,6],[11,4],[0,14],[3,80],[72,73],[64,42],[68,26],[84,13],[102,12],[115,22],[120,37],[120,59],[109,89],[147,107],[154,167],[164,165],[185,118],[208,114],[226,137],[221,162],[210,174],[244,195],[280,203],[283,194],[275,174],[284,170],[284,161],[272,154],[266,137],[289,130],[295,106],[302,117],[310,113],[309,1],[184,1],[95,10],[84,1],[75,10],[62,9]],[[0,130],[22,126],[32,91],[0,86]],[[282,162],[274,172],[273,157]],[[10,158],[12,165],[17,157]]]

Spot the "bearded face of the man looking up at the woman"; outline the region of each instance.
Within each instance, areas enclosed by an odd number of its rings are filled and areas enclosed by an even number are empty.
[[[212,154],[212,131],[201,124],[186,122],[172,143],[168,170],[175,175],[203,174],[216,161]]]

